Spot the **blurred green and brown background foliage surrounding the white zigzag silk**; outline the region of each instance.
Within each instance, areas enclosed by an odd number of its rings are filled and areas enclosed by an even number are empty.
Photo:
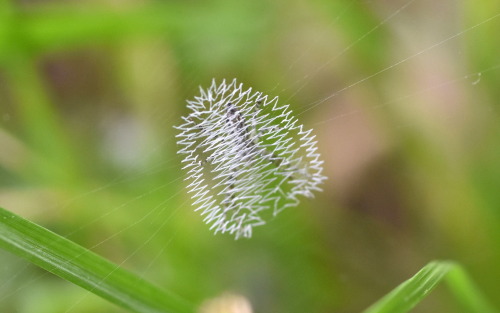
[[[256,312],[357,312],[446,258],[498,306],[499,14],[495,0],[3,0],[0,206],[194,304],[234,292]],[[172,126],[213,77],[304,112],[330,177],[251,240],[212,236],[183,189]],[[4,252],[0,266],[2,312],[119,312]],[[438,289],[415,311],[458,310]]]

